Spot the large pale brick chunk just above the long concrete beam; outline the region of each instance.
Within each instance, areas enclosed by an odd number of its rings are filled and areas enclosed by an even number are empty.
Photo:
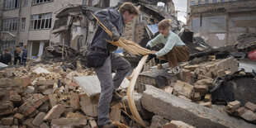
[[[191,99],[192,92],[193,92],[193,86],[190,85],[189,83],[183,83],[181,81],[177,81],[177,83],[174,84],[173,94],[176,96],[183,95]]]

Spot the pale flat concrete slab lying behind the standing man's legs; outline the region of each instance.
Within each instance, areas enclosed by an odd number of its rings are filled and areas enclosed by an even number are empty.
[[[115,75],[114,73],[112,74]],[[78,83],[78,86],[83,88],[83,91],[89,97],[95,96],[101,92],[101,85],[97,78],[97,75],[90,75],[90,76],[80,76],[80,77],[73,77],[73,80]],[[121,83],[119,89],[128,88],[130,81],[125,78]]]

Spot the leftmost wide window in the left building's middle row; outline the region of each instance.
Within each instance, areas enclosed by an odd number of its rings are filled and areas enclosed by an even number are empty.
[[[2,20],[2,31],[17,31],[17,17]]]

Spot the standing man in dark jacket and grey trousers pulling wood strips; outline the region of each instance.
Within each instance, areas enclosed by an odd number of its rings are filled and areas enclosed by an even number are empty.
[[[126,74],[130,70],[130,63],[121,56],[112,53],[116,46],[107,43],[106,40],[119,40],[123,33],[125,24],[132,21],[135,16],[139,15],[137,7],[130,2],[125,2],[119,10],[103,9],[95,12],[95,16],[111,31],[113,36],[108,36],[100,26],[92,38],[92,44],[89,50],[100,51],[106,54],[107,58],[100,67],[94,67],[97,78],[101,83],[101,96],[97,107],[97,123],[101,128],[115,127],[109,119],[109,108],[111,99],[121,100],[116,93]],[[90,52],[88,53],[90,55]],[[116,75],[112,78],[111,71],[116,70]]]

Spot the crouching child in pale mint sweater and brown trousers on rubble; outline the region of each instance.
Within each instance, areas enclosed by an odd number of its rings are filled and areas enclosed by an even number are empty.
[[[149,40],[146,45],[147,49],[151,49],[154,45],[159,43],[164,44],[164,48],[155,54],[149,54],[148,61],[153,58],[164,58],[168,60],[170,70],[168,73],[178,73],[178,63],[187,61],[190,55],[190,50],[187,45],[179,38],[178,35],[170,31],[171,20],[164,19],[159,22],[160,34],[154,39]]]

